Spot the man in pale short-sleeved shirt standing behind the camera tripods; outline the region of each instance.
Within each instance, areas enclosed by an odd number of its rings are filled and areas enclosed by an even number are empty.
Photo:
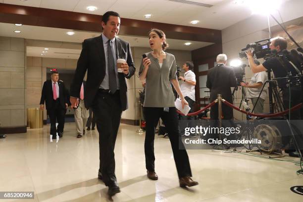
[[[260,62],[256,59],[253,60],[253,63],[256,65],[260,64]],[[252,100],[252,103],[254,106],[253,112],[255,112],[255,113],[263,112],[264,100],[266,98],[268,88],[264,88],[261,95],[260,95],[260,92],[261,92],[262,86],[266,80],[267,80],[266,72],[258,72],[258,73],[253,74],[250,83],[244,83],[244,82],[240,83],[240,85],[242,87],[248,88],[247,89],[248,90],[247,98],[250,98]],[[260,98],[259,98],[258,102],[256,102],[259,95],[260,95]]]

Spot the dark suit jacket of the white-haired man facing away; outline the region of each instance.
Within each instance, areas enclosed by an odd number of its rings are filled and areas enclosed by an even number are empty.
[[[217,94],[228,102],[233,101],[231,87],[237,86],[234,69],[223,64],[216,65],[208,70],[206,87],[210,89],[210,101],[217,99]]]

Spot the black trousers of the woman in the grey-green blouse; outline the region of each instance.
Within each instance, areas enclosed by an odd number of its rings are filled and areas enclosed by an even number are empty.
[[[192,176],[188,155],[179,134],[179,120],[176,108],[169,107],[169,112],[165,112],[163,107],[144,107],[144,110],[146,115],[146,134],[144,143],[146,169],[154,171],[154,123],[161,117],[168,130],[168,137],[174,154],[178,177]]]

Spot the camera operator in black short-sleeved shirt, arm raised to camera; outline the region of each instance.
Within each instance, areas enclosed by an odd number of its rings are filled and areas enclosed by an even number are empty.
[[[287,49],[287,41],[282,37],[276,37],[271,40],[269,46],[270,50],[277,51],[276,57],[270,57],[265,60],[262,64],[256,65],[253,63],[253,53],[252,51],[246,52],[249,59],[250,67],[253,73],[263,72],[267,70],[272,70],[276,78],[288,76],[288,72],[292,75],[297,75],[298,72],[286,59],[283,50]],[[278,79],[278,86],[282,91],[284,108],[288,109],[289,106],[293,107],[302,102],[302,88],[301,86],[291,85],[291,90],[287,86],[287,79]],[[291,100],[289,96],[291,95]],[[291,112],[291,119],[301,119],[300,110],[295,110]]]

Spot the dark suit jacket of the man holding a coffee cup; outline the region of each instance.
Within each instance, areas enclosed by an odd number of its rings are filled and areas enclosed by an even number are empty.
[[[130,45],[128,42],[119,38],[115,39],[116,56],[124,58],[129,66],[129,75],[125,76],[118,73],[120,85],[120,99],[122,110],[127,109],[127,85],[125,78],[130,78],[135,73],[134,61],[132,58]],[[101,82],[105,76],[105,53],[103,48],[102,36],[84,40],[82,43],[82,51],[77,63],[77,69],[73,82],[71,84],[70,96],[78,97],[84,75],[87,70],[87,81],[85,90],[85,107],[89,108],[99,90]]]

